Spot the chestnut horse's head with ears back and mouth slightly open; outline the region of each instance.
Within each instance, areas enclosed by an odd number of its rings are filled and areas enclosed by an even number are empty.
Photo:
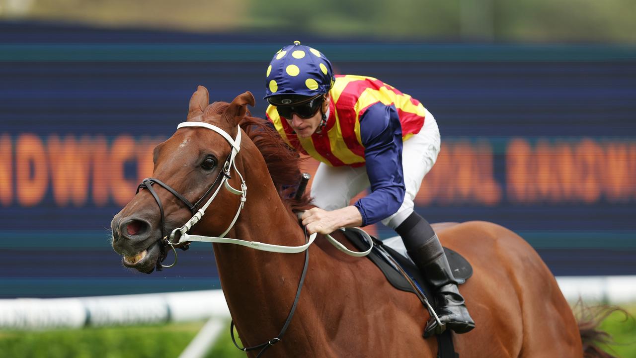
[[[249,113],[247,104],[254,106],[254,96],[245,92],[230,104],[208,103],[207,89],[199,86],[190,99],[188,122],[212,124],[236,138],[237,123]],[[200,127],[181,127],[155,147],[153,177],[142,182],[137,195],[111,222],[113,248],[123,255],[124,266],[151,273],[160,264],[165,258],[163,238],[205,204],[218,187],[231,153],[230,142],[221,134]],[[229,196],[233,201],[223,199]],[[214,215],[205,215],[205,226],[220,234],[232,221],[239,201],[226,190],[219,190],[215,200],[225,205]]]

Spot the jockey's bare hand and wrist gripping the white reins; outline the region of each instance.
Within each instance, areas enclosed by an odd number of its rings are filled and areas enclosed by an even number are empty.
[[[340,227],[354,227],[362,224],[362,215],[355,206],[327,211],[313,208],[305,211],[300,217],[307,226],[309,234],[331,234]]]

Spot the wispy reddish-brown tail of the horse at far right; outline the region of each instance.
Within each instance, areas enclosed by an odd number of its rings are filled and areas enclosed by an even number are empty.
[[[599,345],[611,345],[614,341],[609,333],[601,331],[598,326],[616,311],[624,313],[625,317],[629,317],[629,314],[616,306],[600,305],[590,308],[580,300],[576,306],[580,314],[577,323],[583,343],[583,358],[617,358],[599,347]]]

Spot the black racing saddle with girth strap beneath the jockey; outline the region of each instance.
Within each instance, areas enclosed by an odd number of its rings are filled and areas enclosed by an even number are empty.
[[[368,243],[360,236],[357,231],[343,230],[347,240],[361,251],[368,250]],[[416,294],[418,297],[424,295],[432,308],[435,310],[436,302],[431,287],[428,287],[424,277],[420,273],[420,270],[415,266],[415,263],[410,259],[406,253],[406,247],[399,236],[389,238],[381,241],[371,236],[373,241],[373,249],[371,253],[367,255],[387,278],[389,283],[393,287],[406,292]],[[444,248],[446,257],[448,257],[448,263],[452,270],[455,280],[458,284],[465,283],[473,275],[473,267],[471,264],[460,254],[451,250],[450,248]],[[399,267],[398,267],[399,266]],[[406,278],[404,275],[408,275]],[[411,281],[413,284],[411,284]],[[418,292],[416,292],[416,290]],[[421,299],[421,298],[420,298]],[[446,330],[444,333],[438,336],[438,358],[459,358],[459,354],[455,352],[453,346],[453,338],[450,330]]]

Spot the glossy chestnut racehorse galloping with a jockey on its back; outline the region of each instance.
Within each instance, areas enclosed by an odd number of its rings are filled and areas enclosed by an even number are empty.
[[[310,208],[310,198],[305,194],[297,199],[285,189],[298,183],[298,157],[264,120],[249,116],[247,104],[254,105],[249,92],[230,104],[209,104],[207,89],[201,86],[190,99],[188,122],[215,125],[231,138],[237,138],[237,131],[242,134],[234,165],[249,195],[226,236],[303,245],[306,236],[294,210]],[[155,148],[153,176],[195,203],[220,185],[222,163],[231,151],[230,142],[218,132],[181,127]],[[242,178],[235,171],[228,183],[238,188]],[[155,192],[140,190],[111,224],[113,248],[124,256],[124,265],[145,273],[164,257],[163,236],[196,211],[188,210],[169,190],[153,187]],[[219,190],[191,233],[223,233],[242,206],[235,194]],[[163,203],[161,213],[158,200]],[[436,231],[443,245],[466,257],[474,269],[460,290],[476,328],[453,336],[460,357],[583,357],[581,334],[570,306],[546,264],[520,236],[489,222],[436,226]],[[341,234],[334,236],[345,243]],[[212,246],[240,340],[246,347],[271,340],[294,303],[305,253],[265,252],[228,243]],[[436,339],[422,338],[429,313],[417,296],[394,289],[370,260],[345,255],[322,236],[308,252],[298,309],[280,343],[272,345],[265,356],[437,356]]]

